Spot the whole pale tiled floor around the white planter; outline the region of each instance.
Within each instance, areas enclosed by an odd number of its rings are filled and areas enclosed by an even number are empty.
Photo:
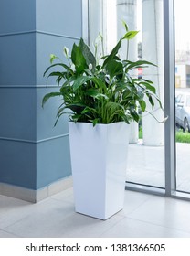
[[[105,221],[75,213],[72,188],[37,204],[0,196],[0,237],[189,238],[189,213],[190,202],[132,191]]]

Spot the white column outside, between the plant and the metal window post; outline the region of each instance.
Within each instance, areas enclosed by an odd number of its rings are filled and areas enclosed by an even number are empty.
[[[143,78],[153,80],[157,94],[164,102],[164,23],[163,0],[142,0],[142,59],[158,67],[143,69]],[[154,109],[147,102],[147,110],[158,120],[164,120],[164,112],[158,103]],[[145,112],[142,117],[143,144],[159,146],[164,144],[164,124],[158,123]]]

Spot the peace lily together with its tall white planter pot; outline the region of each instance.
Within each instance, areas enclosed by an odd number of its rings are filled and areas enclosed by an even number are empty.
[[[70,55],[64,48],[68,64],[52,54],[51,65],[44,73],[47,80],[55,77],[60,87],[59,91],[47,93],[42,105],[51,97],[61,97],[55,124],[63,114],[69,115],[71,121],[69,148],[75,210],[98,219],[108,219],[123,208],[130,131],[126,123],[140,120],[140,112],[147,111],[147,101],[152,107],[158,101],[162,108],[153,82],[132,75],[133,69],[153,63],[128,59],[129,42],[138,31],[129,31],[125,23],[124,27],[125,35],[110,54],[104,54],[100,35],[101,54],[97,43],[93,54],[81,38],[79,44],[73,44]],[[119,51],[125,40],[126,59],[121,59]]]

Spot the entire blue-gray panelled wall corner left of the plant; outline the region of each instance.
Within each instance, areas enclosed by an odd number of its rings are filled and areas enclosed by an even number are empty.
[[[50,54],[81,37],[81,2],[1,1],[0,182],[36,190],[71,174],[67,118],[54,127],[60,99],[41,101],[58,90],[43,77]]]

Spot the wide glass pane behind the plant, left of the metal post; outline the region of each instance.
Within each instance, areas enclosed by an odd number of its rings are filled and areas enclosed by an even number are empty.
[[[90,1],[89,17],[90,42],[100,32],[106,38],[104,43],[108,51],[115,44],[116,37],[119,39],[126,33],[122,20],[130,30],[140,31],[138,37],[130,42],[129,59],[146,59],[157,67],[137,69],[132,75],[152,80],[164,105],[163,3],[164,0]],[[126,57],[126,48],[124,45],[120,52],[121,59]],[[164,120],[164,112],[157,102],[152,109],[148,99],[146,100],[147,112],[142,114],[141,122],[131,124],[126,180],[147,186],[165,187],[164,124],[158,122]]]

